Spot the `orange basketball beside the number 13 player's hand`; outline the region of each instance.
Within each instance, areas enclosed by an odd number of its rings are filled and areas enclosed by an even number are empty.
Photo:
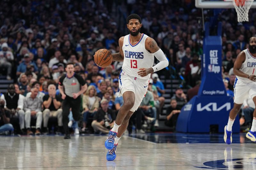
[[[108,67],[112,61],[112,54],[107,49],[99,49],[95,52],[94,62],[97,64],[97,66],[105,68]]]

